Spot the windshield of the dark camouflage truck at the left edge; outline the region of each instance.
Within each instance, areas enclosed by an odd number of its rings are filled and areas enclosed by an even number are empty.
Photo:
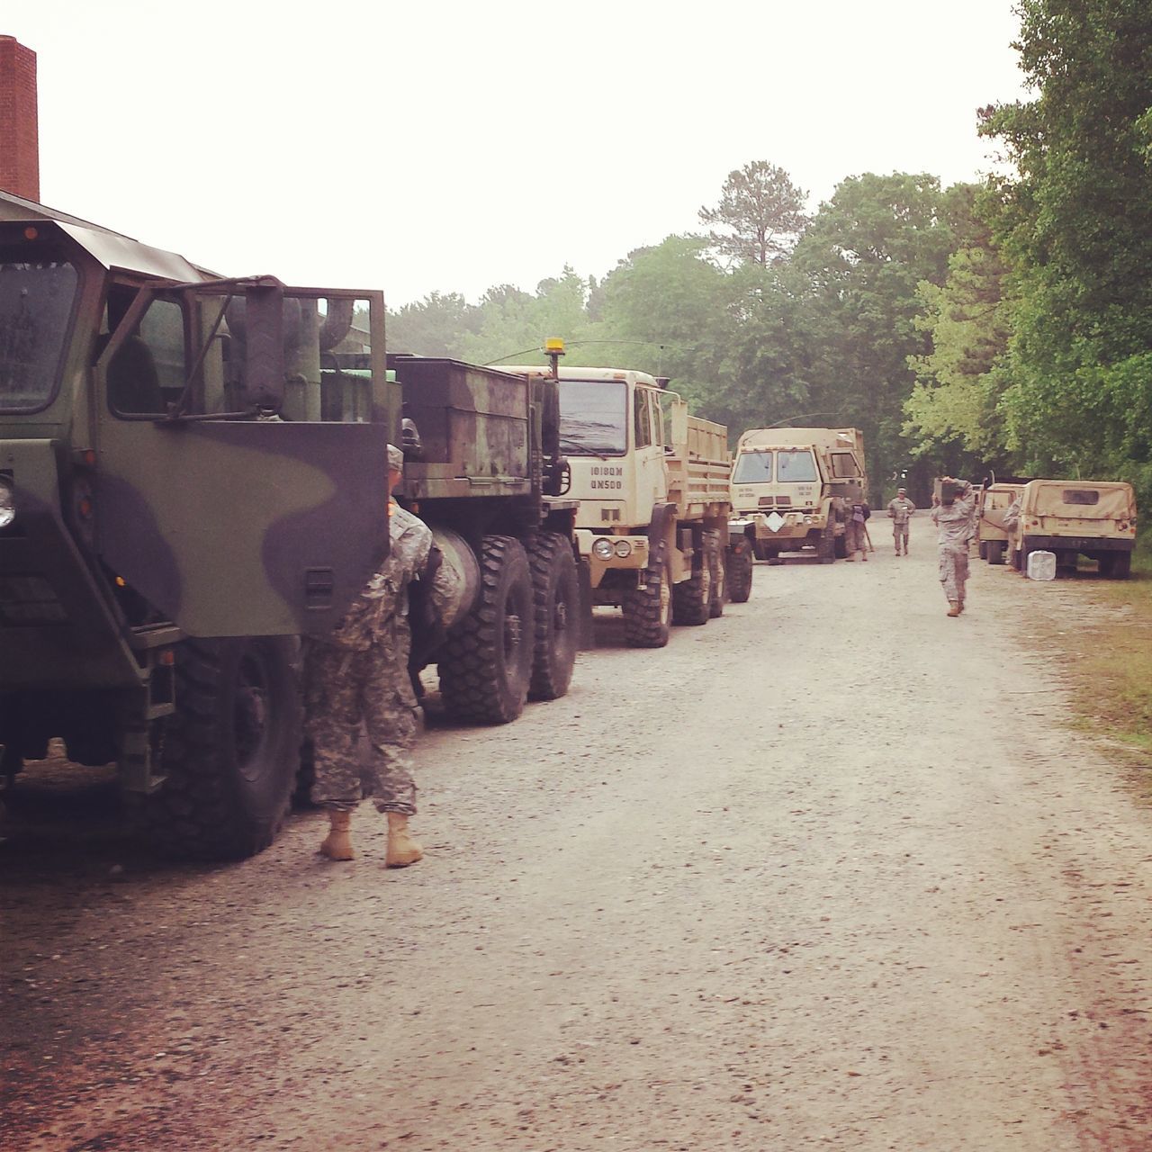
[[[55,395],[77,281],[71,264],[0,255],[0,411],[37,411]]]

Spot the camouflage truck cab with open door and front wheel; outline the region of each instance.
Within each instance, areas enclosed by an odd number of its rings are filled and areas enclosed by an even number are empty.
[[[354,316],[366,376],[321,395]],[[116,761],[165,850],[276,833],[301,636],[387,550],[377,291],[221,279],[0,196],[0,744]]]

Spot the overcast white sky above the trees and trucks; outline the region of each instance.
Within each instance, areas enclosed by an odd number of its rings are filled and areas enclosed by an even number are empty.
[[[40,197],[229,275],[476,300],[600,276],[725,176],[991,167],[1013,0],[38,0]]]

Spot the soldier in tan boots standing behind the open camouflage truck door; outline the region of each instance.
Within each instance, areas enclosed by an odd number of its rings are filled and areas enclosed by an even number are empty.
[[[389,495],[403,462],[400,449],[388,445]],[[335,631],[309,644],[304,691],[316,760],[312,801],[328,810],[331,821],[320,852],[354,858],[351,813],[371,796],[388,817],[386,864],[406,867],[424,855],[408,833],[408,818],[416,813],[409,750],[417,728],[408,676],[408,585],[427,570],[433,545],[427,525],[395,502],[388,506],[388,558]],[[362,723],[371,745],[366,764],[359,755]]]

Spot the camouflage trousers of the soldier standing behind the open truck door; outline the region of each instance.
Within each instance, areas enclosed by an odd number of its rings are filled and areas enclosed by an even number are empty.
[[[371,797],[381,812],[416,813],[409,756],[416,698],[407,645],[395,647],[403,651],[376,643],[364,652],[309,645],[304,703],[316,764],[312,802],[321,808],[350,812]],[[367,749],[361,743],[362,726]]]

